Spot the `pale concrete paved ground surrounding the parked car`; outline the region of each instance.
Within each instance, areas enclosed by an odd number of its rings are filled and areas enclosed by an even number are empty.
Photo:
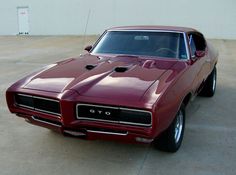
[[[212,40],[220,51],[213,98],[196,98],[187,111],[183,145],[176,154],[152,146],[63,137],[8,112],[5,90],[48,63],[73,57],[88,37],[0,37],[1,175],[235,175],[236,41]]]

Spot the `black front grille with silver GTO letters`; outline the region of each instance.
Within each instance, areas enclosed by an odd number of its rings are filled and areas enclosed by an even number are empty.
[[[151,112],[138,109],[78,104],[76,113],[78,119],[146,127],[150,127],[152,125]]]

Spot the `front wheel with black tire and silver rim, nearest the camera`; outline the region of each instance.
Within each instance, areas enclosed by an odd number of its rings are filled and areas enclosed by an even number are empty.
[[[185,106],[181,105],[171,125],[167,128],[166,131],[164,131],[160,136],[158,136],[154,140],[154,146],[157,149],[165,152],[174,153],[178,151],[183,140],[184,128],[185,128]]]

